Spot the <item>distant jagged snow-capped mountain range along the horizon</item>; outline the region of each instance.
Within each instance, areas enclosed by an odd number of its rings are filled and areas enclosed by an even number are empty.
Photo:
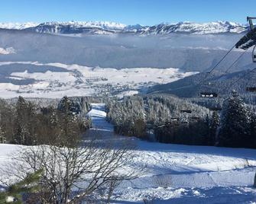
[[[68,22],[46,22],[35,23],[0,23],[0,28],[5,29],[26,29],[37,33],[90,33],[90,34],[110,34],[110,33],[132,33],[139,35],[157,35],[169,33],[242,33],[248,30],[244,24],[229,21],[216,21],[209,23],[179,22],[176,24],[157,24],[154,26],[141,26],[118,24],[108,21],[68,21]]]

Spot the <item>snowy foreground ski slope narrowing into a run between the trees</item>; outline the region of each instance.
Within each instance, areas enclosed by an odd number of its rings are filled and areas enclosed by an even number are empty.
[[[123,182],[114,203],[256,203],[252,187],[256,150],[146,142],[113,134],[105,120],[105,105],[92,104],[92,129],[109,139],[131,139],[137,147],[136,165],[147,164],[144,174]],[[103,138],[104,139],[104,138]],[[0,164],[18,145],[0,145]],[[138,166],[134,165],[134,168]]]

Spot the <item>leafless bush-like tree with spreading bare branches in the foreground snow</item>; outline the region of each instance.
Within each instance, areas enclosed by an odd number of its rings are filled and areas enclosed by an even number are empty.
[[[98,191],[106,188],[108,202],[114,188],[123,180],[138,176],[134,171],[135,155],[129,145],[99,145],[88,140],[84,145],[63,147],[39,145],[22,150],[14,161],[3,167],[7,177],[22,179],[28,172],[43,169],[41,203],[80,203],[99,198]]]

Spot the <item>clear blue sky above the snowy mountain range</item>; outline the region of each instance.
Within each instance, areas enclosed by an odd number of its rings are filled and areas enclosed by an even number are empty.
[[[256,0],[2,0],[0,22],[115,21],[152,25],[256,16]]]

